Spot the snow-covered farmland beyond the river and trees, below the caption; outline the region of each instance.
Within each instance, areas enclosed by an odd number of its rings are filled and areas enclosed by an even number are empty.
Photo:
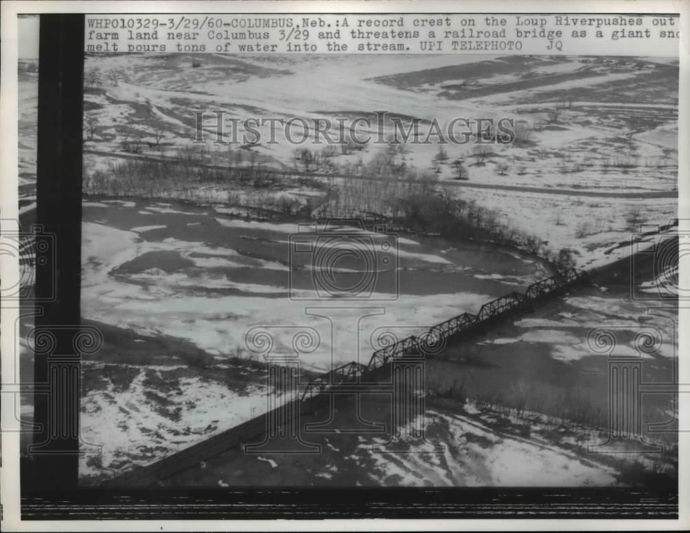
[[[678,65],[673,61],[219,54],[195,58],[200,63],[197,68],[189,68],[192,57],[184,54],[88,58],[87,68],[101,68],[104,77],[100,90],[86,94],[93,108],[90,113],[98,121],[86,148],[117,154],[123,150],[123,139],[140,139],[155,144],[145,146],[144,153],[168,156],[176,145],[188,143],[195,128],[194,112],[211,109],[226,110],[228,117],[240,119],[240,135],[242,120],[248,117],[312,121],[372,117],[376,111],[388,110],[427,121],[422,132],[432,119],[443,127],[456,117],[506,117],[529,130],[524,142],[449,144],[444,146],[444,160],[435,159],[439,147],[433,142],[407,143],[399,163],[431,172],[440,181],[453,181],[452,163],[463,159],[469,186],[453,189],[453,194],[492,208],[517,229],[536,229],[555,252],[574,250],[575,262],[582,268],[609,259],[604,256],[609,243],[629,239],[641,223],[664,224],[675,218]],[[275,142],[268,143],[268,128],[257,129],[264,135],[257,145],[236,145],[231,156],[224,147],[211,147],[209,160],[228,164],[230,157],[233,164],[248,165],[255,158],[269,168],[294,168],[295,145],[286,141],[284,131],[278,128]],[[297,129],[293,135],[300,133]],[[361,132],[373,129],[359,126]],[[160,145],[156,132],[162,135]],[[392,133],[387,123],[384,137]],[[208,142],[215,139],[213,128],[207,134]],[[362,151],[336,153],[329,161],[336,167],[366,165],[384,149],[368,145]],[[106,161],[88,155],[88,172],[103,168]],[[553,188],[571,194],[488,191],[471,188],[474,183]],[[578,197],[578,193],[599,192],[638,194],[624,199]],[[669,196],[647,197],[660,192]],[[209,199],[213,201],[213,196]],[[228,197],[221,194],[217,199]]]

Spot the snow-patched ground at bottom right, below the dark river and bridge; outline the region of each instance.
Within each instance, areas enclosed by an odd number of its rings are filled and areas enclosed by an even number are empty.
[[[383,403],[371,401],[367,419],[378,420]],[[673,459],[655,454],[635,460],[586,454],[588,443],[605,441],[605,436],[571,423],[506,416],[474,402],[432,403],[424,413],[424,439],[312,435],[308,440],[321,445],[319,454],[230,451],[172,476],[166,485],[599,487],[629,483],[644,472],[642,463],[658,474],[674,468]]]

